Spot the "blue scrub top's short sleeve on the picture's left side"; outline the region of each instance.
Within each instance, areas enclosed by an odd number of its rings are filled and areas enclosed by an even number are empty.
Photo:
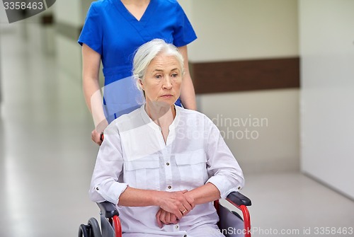
[[[79,44],[88,45],[92,50],[95,50],[102,55],[102,39],[103,29],[101,24],[101,16],[96,8],[96,3],[93,2],[86,16],[84,27],[79,36]]]

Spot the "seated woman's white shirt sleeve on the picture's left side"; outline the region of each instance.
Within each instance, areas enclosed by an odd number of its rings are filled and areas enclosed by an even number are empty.
[[[93,202],[109,201],[117,204],[126,183],[120,183],[123,159],[120,145],[120,135],[114,123],[105,129],[105,139],[101,144],[93,170],[90,198]]]

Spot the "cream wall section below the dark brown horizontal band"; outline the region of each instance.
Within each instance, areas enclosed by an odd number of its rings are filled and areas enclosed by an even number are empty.
[[[244,173],[299,169],[299,90],[202,96],[200,110],[222,131]]]

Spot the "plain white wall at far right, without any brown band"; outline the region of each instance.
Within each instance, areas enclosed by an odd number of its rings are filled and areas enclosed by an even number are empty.
[[[301,169],[354,199],[354,1],[300,0]]]

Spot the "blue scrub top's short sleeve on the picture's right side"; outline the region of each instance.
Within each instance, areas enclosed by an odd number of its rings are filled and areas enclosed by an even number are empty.
[[[193,42],[197,38],[192,24],[188,20],[182,7],[177,4],[176,7],[176,27],[173,33],[173,45],[176,47],[182,47]]]

